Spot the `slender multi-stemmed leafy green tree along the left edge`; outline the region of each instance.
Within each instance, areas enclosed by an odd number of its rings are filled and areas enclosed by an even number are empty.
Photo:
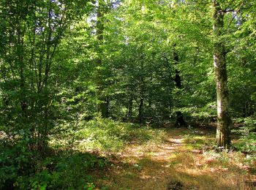
[[[45,151],[56,126],[56,50],[87,1],[1,1],[1,123],[27,148]],[[79,5],[78,5],[79,4]],[[82,5],[82,6],[81,6]]]

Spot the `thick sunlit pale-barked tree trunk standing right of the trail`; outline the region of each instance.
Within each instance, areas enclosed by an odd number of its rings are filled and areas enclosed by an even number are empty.
[[[230,114],[227,89],[227,69],[225,60],[225,43],[222,39],[225,12],[214,0],[214,71],[217,83],[217,134],[219,147],[230,145]]]

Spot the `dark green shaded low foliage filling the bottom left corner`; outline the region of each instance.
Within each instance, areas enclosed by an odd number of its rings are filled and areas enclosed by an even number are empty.
[[[90,172],[108,166],[106,159],[90,153],[59,152],[44,158],[35,155],[21,151],[13,158],[14,151],[5,149],[0,158],[1,189],[87,189],[93,186]]]

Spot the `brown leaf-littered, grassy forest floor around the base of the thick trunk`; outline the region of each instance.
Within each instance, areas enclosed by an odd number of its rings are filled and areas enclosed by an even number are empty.
[[[154,129],[159,130],[159,129]],[[255,163],[235,151],[211,151],[214,132],[165,129],[161,142],[130,143],[94,171],[97,189],[256,189]]]

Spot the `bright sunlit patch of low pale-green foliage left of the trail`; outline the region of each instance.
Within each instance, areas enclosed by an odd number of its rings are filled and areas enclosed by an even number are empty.
[[[65,130],[64,135],[54,137],[50,144],[56,148],[71,147],[78,151],[115,153],[121,151],[124,145],[149,141],[157,143],[164,136],[165,132],[157,132],[149,126],[97,118],[88,122],[81,121],[76,129]],[[69,141],[70,137],[73,137],[72,142]]]

